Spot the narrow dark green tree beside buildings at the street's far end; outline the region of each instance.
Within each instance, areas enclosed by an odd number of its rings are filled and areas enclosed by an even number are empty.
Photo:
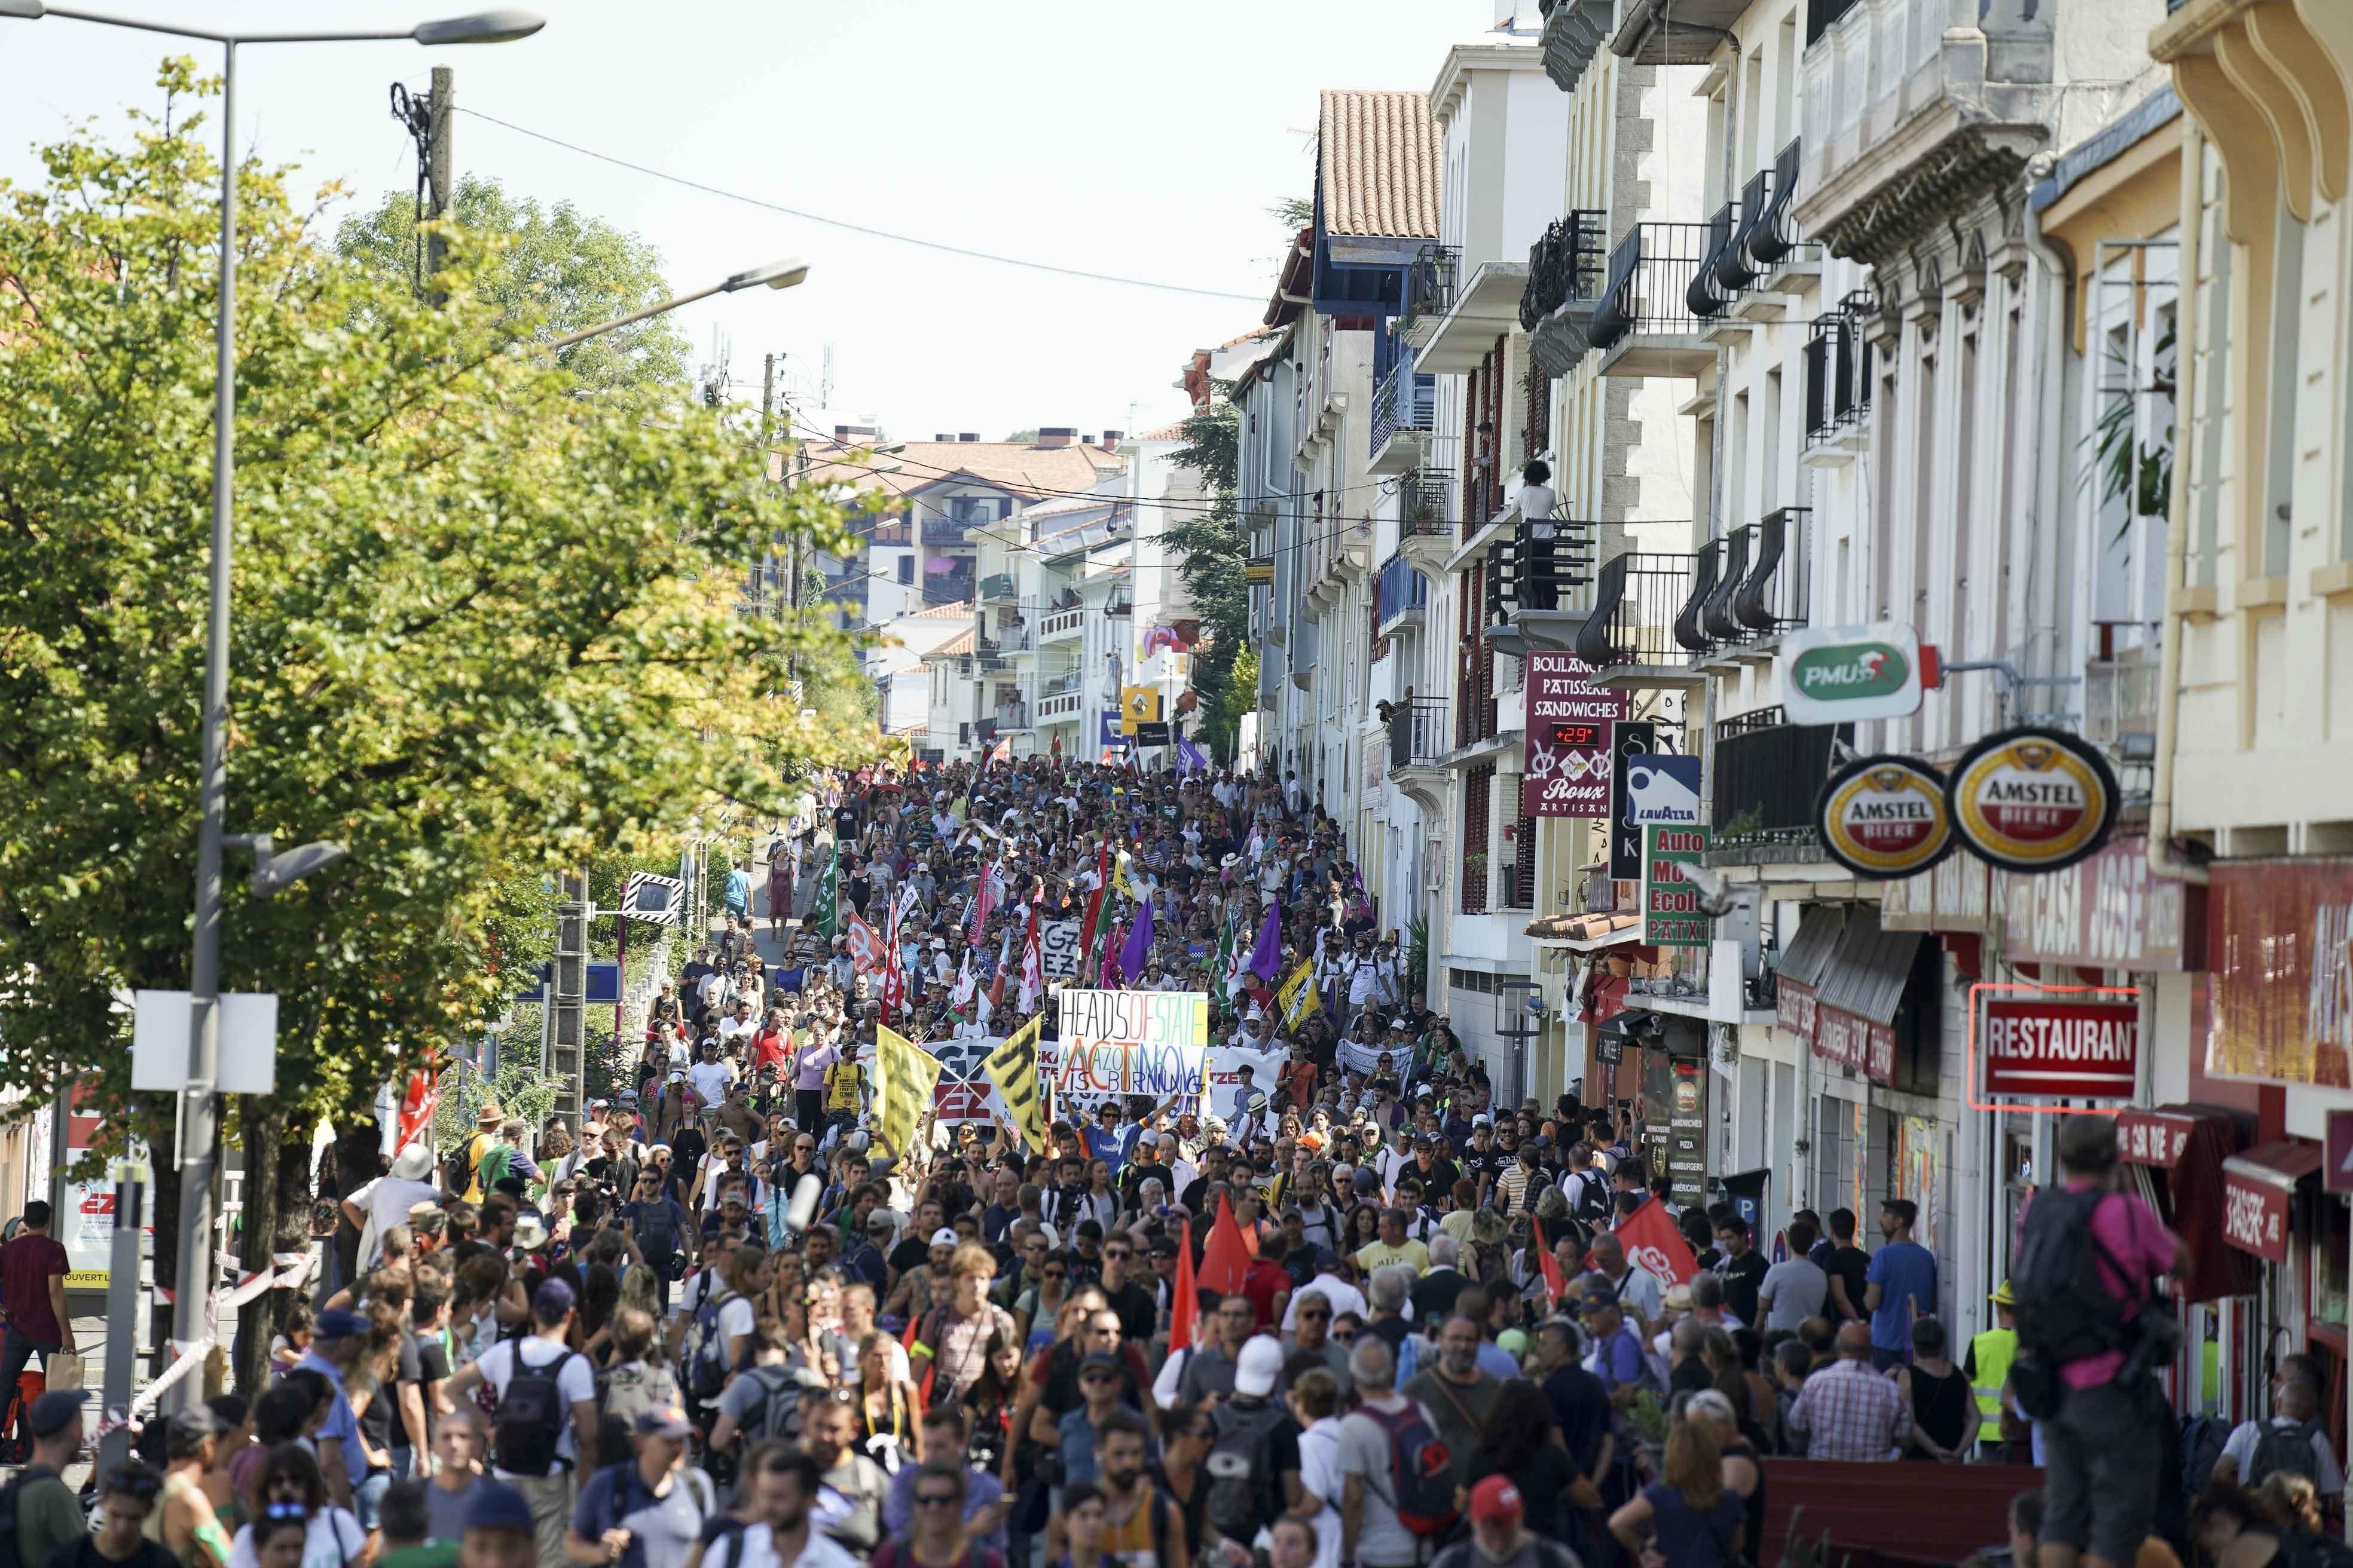
[[[1235,503],[1242,454],[1242,414],[1228,400],[1228,383],[1212,383],[1212,397],[1179,428],[1184,447],[1169,463],[1200,475],[1207,505],[1167,529],[1176,552],[1176,576],[1200,609],[1205,644],[1193,661],[1193,689],[1202,701],[1200,738],[1219,757],[1233,757],[1240,715],[1257,705],[1257,672],[1249,693],[1233,698],[1235,656],[1249,644],[1249,531]],[[1242,705],[1235,708],[1233,703]]]

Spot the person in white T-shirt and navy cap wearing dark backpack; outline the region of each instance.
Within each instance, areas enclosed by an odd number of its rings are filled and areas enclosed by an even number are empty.
[[[499,1340],[449,1378],[449,1396],[473,1394],[489,1415],[492,1474],[532,1505],[539,1568],[565,1568],[576,1476],[595,1472],[595,1371],[569,1345],[572,1286],[544,1279],[532,1293],[532,1333]]]

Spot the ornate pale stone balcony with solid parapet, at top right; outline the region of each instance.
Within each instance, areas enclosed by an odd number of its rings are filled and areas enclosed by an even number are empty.
[[[1981,5],[1948,42],[1951,0],[1809,0],[1805,153],[1793,216],[1833,256],[1880,261],[2009,200],[2059,106],[2049,7]],[[2134,40],[2134,54],[2141,54]]]

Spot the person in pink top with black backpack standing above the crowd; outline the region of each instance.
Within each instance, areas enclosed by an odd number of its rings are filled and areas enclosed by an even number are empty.
[[[2179,1328],[2155,1286],[2188,1251],[2113,1182],[2115,1119],[2066,1117],[2059,1185],[2019,1218],[2012,1387],[2045,1427],[2042,1568],[2073,1568],[2078,1552],[2129,1563],[2158,1505],[2158,1422],[2172,1415],[2151,1368],[2172,1359]]]

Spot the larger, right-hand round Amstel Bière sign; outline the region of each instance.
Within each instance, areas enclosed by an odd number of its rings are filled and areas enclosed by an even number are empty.
[[[2115,773],[2108,759],[2054,729],[1986,736],[1946,783],[1953,832],[1981,860],[2057,872],[2108,842]]]

